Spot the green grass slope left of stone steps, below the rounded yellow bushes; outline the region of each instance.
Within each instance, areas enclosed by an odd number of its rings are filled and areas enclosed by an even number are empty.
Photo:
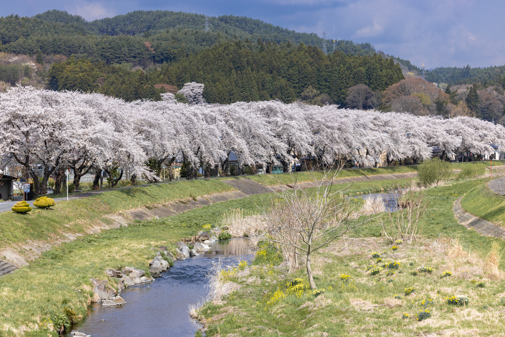
[[[54,210],[34,210],[28,214],[12,211],[0,214],[0,248],[26,240],[54,240],[62,231],[84,233],[103,216],[120,210],[220,193],[233,188],[219,180],[191,180],[175,184],[117,189],[88,198],[57,202]],[[0,257],[1,258],[1,257]]]

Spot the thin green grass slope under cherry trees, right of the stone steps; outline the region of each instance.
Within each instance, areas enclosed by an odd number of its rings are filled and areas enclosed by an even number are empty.
[[[338,179],[338,178],[359,177],[367,175],[407,173],[407,172],[417,172],[417,166],[393,166],[393,167],[364,168],[364,169],[346,169],[341,170],[336,178]],[[291,173],[262,174],[256,176],[249,176],[249,178],[257,182],[260,182],[264,185],[270,186],[270,185],[278,185],[279,183],[290,184],[293,183],[293,179],[297,179],[298,182],[313,181],[314,176],[316,178],[319,178],[321,177],[321,173],[297,172],[293,174]]]

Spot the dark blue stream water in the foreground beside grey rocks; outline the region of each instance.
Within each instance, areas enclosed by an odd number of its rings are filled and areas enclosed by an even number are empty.
[[[193,337],[199,324],[189,317],[188,308],[207,297],[206,276],[214,263],[223,258],[224,265],[235,265],[252,258],[246,239],[216,241],[209,246],[200,256],[174,262],[154,282],[123,290],[120,295],[126,305],[95,303],[89,316],[73,329],[93,337]]]

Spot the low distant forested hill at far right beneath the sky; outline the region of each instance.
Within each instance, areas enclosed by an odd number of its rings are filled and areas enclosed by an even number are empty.
[[[436,83],[472,84],[480,83],[483,87],[505,84],[505,66],[486,68],[440,67],[426,73],[426,80]]]

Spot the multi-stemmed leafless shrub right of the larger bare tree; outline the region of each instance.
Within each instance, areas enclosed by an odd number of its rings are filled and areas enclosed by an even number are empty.
[[[394,244],[397,239],[411,243],[417,236],[417,224],[424,214],[428,203],[424,200],[422,190],[416,190],[411,180],[406,190],[395,189],[392,200],[395,205],[386,205],[384,213],[379,216],[382,234]]]

